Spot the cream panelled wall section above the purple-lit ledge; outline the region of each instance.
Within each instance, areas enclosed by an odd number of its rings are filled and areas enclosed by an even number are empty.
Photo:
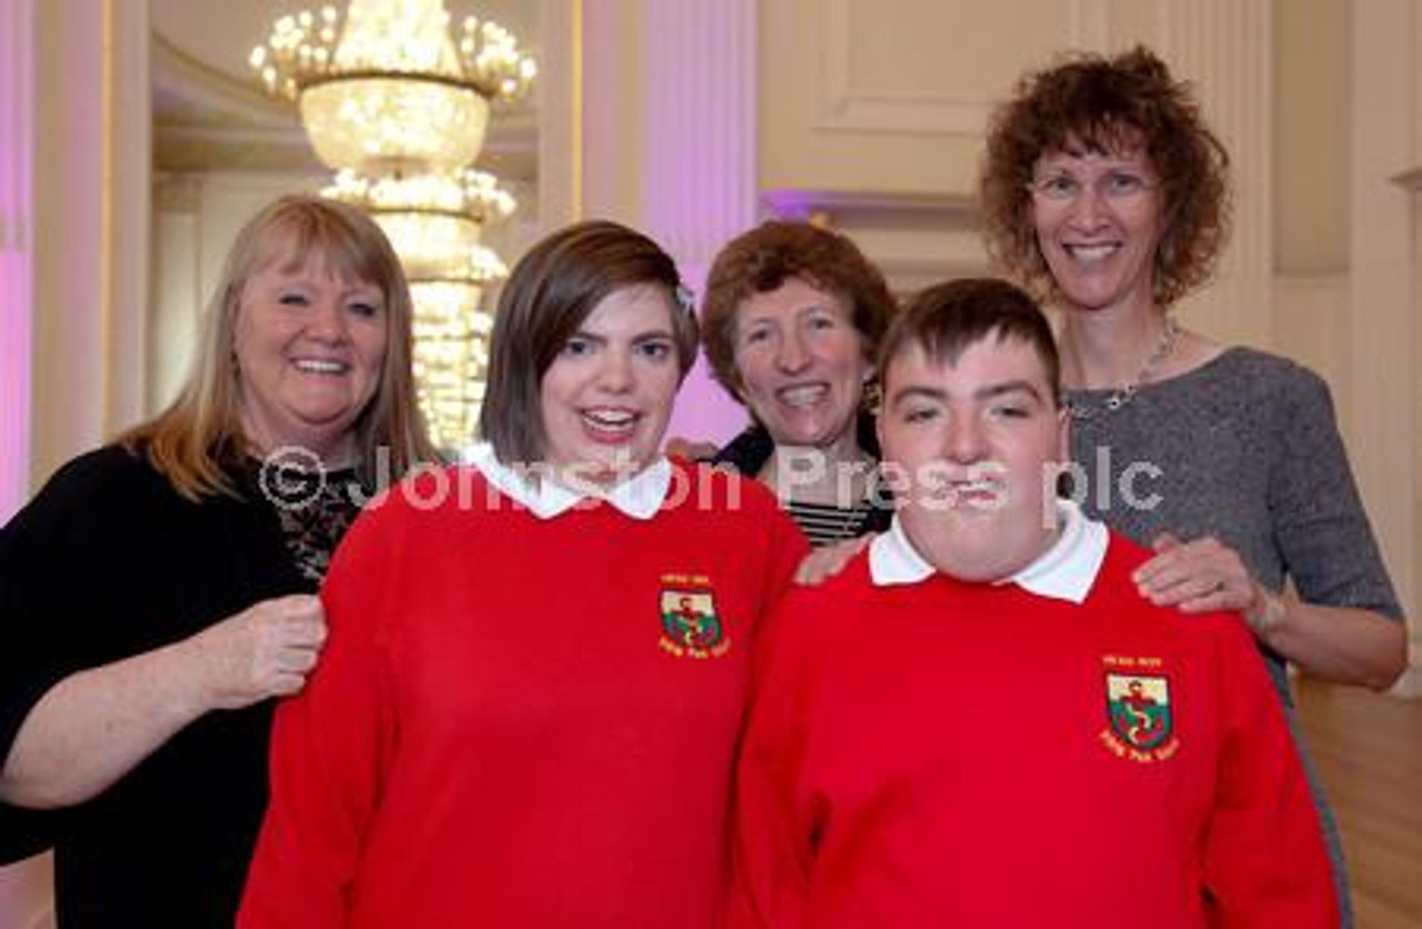
[[[761,3],[765,189],[968,195],[1021,65],[1106,43],[1103,0]]]

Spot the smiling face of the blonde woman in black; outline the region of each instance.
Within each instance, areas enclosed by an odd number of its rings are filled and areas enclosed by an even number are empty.
[[[343,280],[314,255],[247,277],[233,323],[242,425],[260,452],[299,445],[328,462],[353,454],[353,427],[385,361],[387,310],[374,285]]]

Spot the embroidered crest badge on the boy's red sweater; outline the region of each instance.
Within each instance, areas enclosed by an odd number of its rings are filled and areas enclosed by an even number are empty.
[[[1170,679],[1160,659],[1105,656],[1106,727],[1101,741],[1130,761],[1165,761],[1180,748]]]

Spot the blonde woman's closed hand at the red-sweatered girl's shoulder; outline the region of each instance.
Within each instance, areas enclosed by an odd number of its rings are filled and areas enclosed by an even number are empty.
[[[323,644],[326,610],[310,593],[260,600],[183,643],[208,710],[297,693]]]

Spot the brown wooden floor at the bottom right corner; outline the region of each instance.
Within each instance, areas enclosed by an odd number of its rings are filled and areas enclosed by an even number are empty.
[[[1422,700],[1303,679],[1298,707],[1342,828],[1358,929],[1422,929]]]

